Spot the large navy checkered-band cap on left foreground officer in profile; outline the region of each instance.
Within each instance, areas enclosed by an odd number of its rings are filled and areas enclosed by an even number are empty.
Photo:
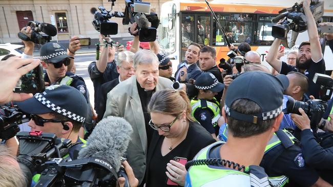
[[[36,93],[34,97],[23,102],[17,102],[17,105],[26,113],[57,112],[77,122],[84,122],[88,111],[84,95],[74,87],[66,85],[49,86],[44,92]]]

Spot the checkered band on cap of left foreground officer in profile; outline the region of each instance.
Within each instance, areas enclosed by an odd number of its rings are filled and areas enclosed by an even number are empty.
[[[71,111],[68,111],[64,108],[61,108],[59,106],[57,106],[56,104],[52,103],[51,101],[49,101],[48,99],[46,99],[43,96],[43,93],[36,93],[36,95],[34,96],[41,104],[45,105],[46,107],[50,108],[51,110],[66,116],[69,119],[75,120],[77,122],[85,122],[86,118],[79,116]]]

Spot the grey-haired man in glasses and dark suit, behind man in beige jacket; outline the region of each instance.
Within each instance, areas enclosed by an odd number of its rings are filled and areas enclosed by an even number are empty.
[[[106,103],[107,103],[107,94],[119,84],[119,82],[124,81],[134,75],[134,67],[133,67],[133,57],[134,53],[130,51],[124,51],[118,53],[118,58],[116,61],[117,65],[117,72],[119,77],[115,80],[106,82],[101,85],[99,96],[98,96],[98,103],[95,104],[97,106],[97,122],[99,122],[104,115]]]

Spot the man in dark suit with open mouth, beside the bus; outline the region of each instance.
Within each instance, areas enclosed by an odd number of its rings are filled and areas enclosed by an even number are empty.
[[[188,82],[190,79],[196,79],[201,75],[201,70],[197,65],[201,46],[198,43],[191,43],[185,53],[185,62],[177,67],[175,77],[177,81]]]

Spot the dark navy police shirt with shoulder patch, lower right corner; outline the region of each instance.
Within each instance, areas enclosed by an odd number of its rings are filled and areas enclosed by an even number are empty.
[[[265,153],[260,166],[265,168],[269,177],[287,176],[289,183],[286,186],[311,186],[319,178],[319,174],[314,169],[305,165],[302,150],[298,146],[288,149],[285,149],[283,145],[275,147]]]

